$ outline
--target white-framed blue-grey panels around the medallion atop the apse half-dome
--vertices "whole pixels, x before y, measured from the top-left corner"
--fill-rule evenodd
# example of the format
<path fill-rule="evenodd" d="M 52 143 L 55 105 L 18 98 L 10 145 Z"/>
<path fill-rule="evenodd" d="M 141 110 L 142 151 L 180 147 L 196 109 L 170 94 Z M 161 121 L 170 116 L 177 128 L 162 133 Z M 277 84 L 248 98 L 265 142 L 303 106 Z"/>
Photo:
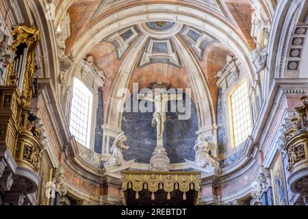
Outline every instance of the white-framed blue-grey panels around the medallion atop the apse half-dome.
<path fill-rule="evenodd" d="M 183 58 L 181 55 L 183 53 L 179 53 L 181 51 L 179 46 L 190 48 L 194 51 L 196 57 L 202 61 L 207 45 L 217 42 L 213 36 L 194 27 L 165 21 L 134 25 L 108 36 L 103 41 L 114 44 L 118 59 L 121 59 L 140 36 L 146 38 L 146 43 L 142 47 L 140 57 L 136 57 L 137 60 L 131 60 L 138 62 L 137 67 L 153 63 L 166 63 L 182 68 L 181 60 Z"/>

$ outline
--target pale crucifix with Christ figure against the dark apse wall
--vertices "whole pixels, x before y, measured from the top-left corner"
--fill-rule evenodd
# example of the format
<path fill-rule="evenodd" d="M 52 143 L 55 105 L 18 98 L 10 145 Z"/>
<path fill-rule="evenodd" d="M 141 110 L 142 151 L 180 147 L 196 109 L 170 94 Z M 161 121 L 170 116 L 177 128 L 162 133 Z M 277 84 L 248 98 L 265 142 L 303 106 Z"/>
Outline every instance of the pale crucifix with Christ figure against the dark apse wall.
<path fill-rule="evenodd" d="M 145 99 L 146 101 L 151 101 L 155 104 L 155 112 L 153 113 L 152 127 L 157 129 L 157 146 L 153 153 L 155 156 L 166 157 L 167 153 L 163 146 L 163 135 L 164 135 L 164 123 L 166 122 L 166 103 L 168 101 L 182 100 L 181 94 L 168 94 L 164 92 L 166 88 L 164 83 L 154 83 L 152 94 L 139 94 L 138 99 Z M 152 157 L 152 159 L 153 159 Z M 166 157 L 168 159 L 168 157 Z"/>

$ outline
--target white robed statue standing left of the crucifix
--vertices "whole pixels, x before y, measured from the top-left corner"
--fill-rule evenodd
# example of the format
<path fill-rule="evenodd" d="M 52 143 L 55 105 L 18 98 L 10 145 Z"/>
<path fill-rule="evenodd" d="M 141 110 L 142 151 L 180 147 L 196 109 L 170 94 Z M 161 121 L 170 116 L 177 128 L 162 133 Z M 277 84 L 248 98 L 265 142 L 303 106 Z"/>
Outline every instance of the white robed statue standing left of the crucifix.
<path fill-rule="evenodd" d="M 112 145 L 112 148 L 110 151 L 112 151 L 112 157 L 108 162 L 105 162 L 105 167 L 111 167 L 111 166 L 120 166 L 123 165 L 124 158 L 123 158 L 123 151 L 127 151 L 129 149 L 129 146 L 126 146 L 123 142 L 127 141 L 127 137 L 121 133 L 116 140 L 114 141 L 114 144 Z"/>

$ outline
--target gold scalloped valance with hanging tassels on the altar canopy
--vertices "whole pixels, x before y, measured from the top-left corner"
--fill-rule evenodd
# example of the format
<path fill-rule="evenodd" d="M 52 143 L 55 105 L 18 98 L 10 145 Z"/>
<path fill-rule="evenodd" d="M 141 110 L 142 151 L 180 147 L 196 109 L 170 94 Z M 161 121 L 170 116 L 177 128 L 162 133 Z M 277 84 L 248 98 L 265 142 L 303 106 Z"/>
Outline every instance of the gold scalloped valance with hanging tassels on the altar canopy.
<path fill-rule="evenodd" d="M 179 190 L 183 192 L 183 200 L 186 200 L 186 192 L 195 190 L 198 196 L 201 192 L 200 172 L 122 172 L 122 189 L 136 192 L 136 199 L 139 199 L 139 192 L 149 190 L 152 192 L 151 199 L 155 200 L 154 192 L 164 190 L 167 192 L 167 199 L 170 200 L 170 192 Z M 198 198 L 197 198 L 198 199 Z"/>

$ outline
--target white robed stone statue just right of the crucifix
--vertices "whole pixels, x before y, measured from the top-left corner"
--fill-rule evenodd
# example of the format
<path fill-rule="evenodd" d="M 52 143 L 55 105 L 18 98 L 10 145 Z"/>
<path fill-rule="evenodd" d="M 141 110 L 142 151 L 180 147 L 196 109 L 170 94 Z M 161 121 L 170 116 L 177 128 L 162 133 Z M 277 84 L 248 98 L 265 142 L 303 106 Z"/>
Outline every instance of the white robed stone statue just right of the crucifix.
<path fill-rule="evenodd" d="M 216 166 L 214 159 L 209 155 L 209 142 L 203 140 L 202 136 L 198 136 L 194 145 L 195 162 L 200 167 Z"/>

